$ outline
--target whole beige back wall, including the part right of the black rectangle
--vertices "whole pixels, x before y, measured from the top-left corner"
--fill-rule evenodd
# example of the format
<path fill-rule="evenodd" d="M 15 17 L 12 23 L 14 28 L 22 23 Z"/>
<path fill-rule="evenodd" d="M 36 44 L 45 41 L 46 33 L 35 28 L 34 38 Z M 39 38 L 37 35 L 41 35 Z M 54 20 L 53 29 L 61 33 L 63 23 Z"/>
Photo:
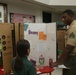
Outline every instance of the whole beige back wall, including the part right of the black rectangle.
<path fill-rule="evenodd" d="M 32 8 L 32 7 L 31 7 Z M 20 13 L 20 14 L 28 14 L 28 15 L 34 15 L 35 16 L 35 22 L 36 23 L 42 23 L 43 18 L 42 18 L 42 9 L 40 8 L 32 8 L 30 6 L 25 5 L 16 5 L 16 4 L 8 4 L 8 22 L 10 21 L 10 13 Z M 46 11 L 46 10 L 45 10 Z M 48 11 L 46 11 L 48 12 Z M 52 13 L 52 22 L 55 22 L 56 20 L 59 20 L 59 14 L 50 11 L 49 13 Z"/>

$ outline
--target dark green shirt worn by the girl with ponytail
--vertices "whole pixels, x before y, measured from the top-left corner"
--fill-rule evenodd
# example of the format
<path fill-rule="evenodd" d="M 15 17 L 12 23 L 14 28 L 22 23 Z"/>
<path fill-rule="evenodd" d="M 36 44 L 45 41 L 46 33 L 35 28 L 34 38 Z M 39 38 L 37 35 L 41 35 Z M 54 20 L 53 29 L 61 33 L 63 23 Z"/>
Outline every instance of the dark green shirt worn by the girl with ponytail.
<path fill-rule="evenodd" d="M 36 73 L 36 69 L 34 67 L 34 64 L 32 62 L 30 62 L 27 57 L 22 57 L 22 61 L 23 61 L 23 68 L 21 71 L 15 71 L 14 69 L 14 64 L 15 64 L 15 58 L 13 58 L 12 61 L 12 68 L 14 71 L 14 75 L 37 75 Z"/>

